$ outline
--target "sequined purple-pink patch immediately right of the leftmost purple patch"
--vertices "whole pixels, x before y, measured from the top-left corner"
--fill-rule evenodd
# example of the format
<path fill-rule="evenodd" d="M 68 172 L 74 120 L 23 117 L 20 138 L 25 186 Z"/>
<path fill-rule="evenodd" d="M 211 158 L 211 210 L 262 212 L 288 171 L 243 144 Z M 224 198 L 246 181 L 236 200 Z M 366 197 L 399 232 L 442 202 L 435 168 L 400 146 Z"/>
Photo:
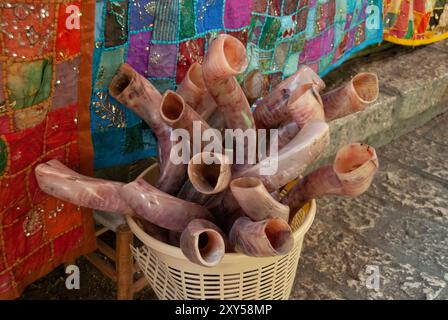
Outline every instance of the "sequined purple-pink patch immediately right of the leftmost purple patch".
<path fill-rule="evenodd" d="M 176 72 L 176 63 L 177 45 L 151 44 L 148 64 L 149 77 L 174 77 Z"/>

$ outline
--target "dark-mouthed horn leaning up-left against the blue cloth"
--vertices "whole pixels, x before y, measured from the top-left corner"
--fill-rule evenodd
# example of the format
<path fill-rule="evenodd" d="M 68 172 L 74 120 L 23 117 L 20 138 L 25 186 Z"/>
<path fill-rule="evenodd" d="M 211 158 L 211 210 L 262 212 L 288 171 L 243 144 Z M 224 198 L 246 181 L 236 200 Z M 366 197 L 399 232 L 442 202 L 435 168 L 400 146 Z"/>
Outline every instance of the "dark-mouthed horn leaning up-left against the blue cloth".
<path fill-rule="evenodd" d="M 134 111 L 152 129 L 159 145 L 160 167 L 169 161 L 171 129 L 160 118 L 162 96 L 156 88 L 131 66 L 124 63 L 113 77 L 109 93 L 120 103 Z"/>

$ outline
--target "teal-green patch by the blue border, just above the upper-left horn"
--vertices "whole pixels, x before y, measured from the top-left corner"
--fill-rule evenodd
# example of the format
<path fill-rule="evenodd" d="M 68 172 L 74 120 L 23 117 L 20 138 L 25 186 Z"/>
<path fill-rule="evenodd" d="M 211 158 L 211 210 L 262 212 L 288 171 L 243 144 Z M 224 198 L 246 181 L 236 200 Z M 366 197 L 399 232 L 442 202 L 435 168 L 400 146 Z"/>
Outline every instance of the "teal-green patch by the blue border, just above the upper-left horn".
<path fill-rule="evenodd" d="M 107 89 L 122 63 L 124 63 L 124 48 L 103 51 L 95 87 L 97 89 Z"/>

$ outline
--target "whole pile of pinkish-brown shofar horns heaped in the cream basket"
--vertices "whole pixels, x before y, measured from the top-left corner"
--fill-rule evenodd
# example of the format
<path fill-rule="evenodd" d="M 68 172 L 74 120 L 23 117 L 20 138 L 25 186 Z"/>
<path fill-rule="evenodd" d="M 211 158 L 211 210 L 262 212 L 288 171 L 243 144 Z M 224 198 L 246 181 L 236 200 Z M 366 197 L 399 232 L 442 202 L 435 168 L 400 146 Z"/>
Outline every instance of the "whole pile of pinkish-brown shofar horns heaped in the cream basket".
<path fill-rule="evenodd" d="M 333 165 L 302 175 L 329 144 L 327 122 L 375 101 L 378 79 L 360 73 L 321 96 L 324 82 L 304 66 L 267 93 L 258 72 L 251 72 L 241 86 L 237 82 L 235 76 L 248 64 L 245 52 L 238 39 L 219 35 L 203 64 L 193 64 L 177 91 L 163 96 L 129 65 L 119 68 L 109 92 L 156 135 L 157 183 L 86 177 L 51 160 L 36 168 L 40 188 L 79 206 L 132 215 L 147 233 L 179 246 L 201 266 L 216 266 L 225 252 L 257 257 L 288 253 L 294 245 L 290 222 L 307 201 L 326 195 L 357 196 L 370 186 L 378 160 L 372 147 L 359 143 L 341 148 Z M 260 162 L 231 165 L 225 154 L 214 154 L 217 161 L 212 164 L 194 161 L 210 156 L 202 150 L 192 154 L 188 165 L 173 163 L 171 132 L 192 132 L 194 121 L 204 130 L 278 129 L 277 172 L 261 175 Z M 297 178 L 280 198 L 279 190 Z"/>

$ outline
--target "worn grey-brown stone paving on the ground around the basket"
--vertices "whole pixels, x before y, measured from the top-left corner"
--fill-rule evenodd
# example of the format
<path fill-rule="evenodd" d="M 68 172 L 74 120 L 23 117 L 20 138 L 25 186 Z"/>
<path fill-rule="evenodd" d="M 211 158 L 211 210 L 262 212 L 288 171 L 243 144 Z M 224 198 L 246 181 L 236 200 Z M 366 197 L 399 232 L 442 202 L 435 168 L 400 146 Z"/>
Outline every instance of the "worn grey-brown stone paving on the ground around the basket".
<path fill-rule="evenodd" d="M 448 113 L 378 149 L 380 171 L 356 199 L 318 201 L 291 299 L 448 299 Z M 23 299 L 115 299 L 115 285 L 85 259 L 81 289 L 62 267 Z M 379 289 L 366 286 L 368 268 Z M 370 287 L 370 289 L 368 288 Z M 154 299 L 145 289 L 136 299 Z"/>

